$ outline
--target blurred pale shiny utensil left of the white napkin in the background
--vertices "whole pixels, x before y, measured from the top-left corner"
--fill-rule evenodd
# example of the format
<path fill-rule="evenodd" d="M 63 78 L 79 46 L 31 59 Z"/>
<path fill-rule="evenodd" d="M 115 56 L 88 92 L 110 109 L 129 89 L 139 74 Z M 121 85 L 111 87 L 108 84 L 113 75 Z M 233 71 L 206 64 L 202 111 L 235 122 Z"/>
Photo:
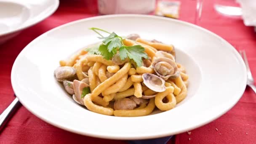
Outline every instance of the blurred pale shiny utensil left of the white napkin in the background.
<path fill-rule="evenodd" d="M 225 16 L 238 17 L 242 16 L 242 8 L 235 6 L 225 6 L 225 5 L 214 5 L 214 9 Z"/>

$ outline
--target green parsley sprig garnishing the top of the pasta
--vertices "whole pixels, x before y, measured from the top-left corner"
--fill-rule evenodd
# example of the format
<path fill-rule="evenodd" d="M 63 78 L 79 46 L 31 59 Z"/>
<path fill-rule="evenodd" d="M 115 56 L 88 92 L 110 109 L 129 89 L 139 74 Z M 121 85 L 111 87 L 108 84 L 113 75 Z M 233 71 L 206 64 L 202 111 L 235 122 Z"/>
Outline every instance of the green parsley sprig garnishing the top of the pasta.
<path fill-rule="evenodd" d="M 100 54 L 104 59 L 109 60 L 119 51 L 121 60 L 129 58 L 136 63 L 137 67 L 141 67 L 142 58 L 148 58 L 147 53 L 144 52 L 145 49 L 141 45 L 126 46 L 123 44 L 123 37 L 118 36 L 115 32 L 110 33 L 96 27 L 90 29 L 100 35 L 98 38 L 103 41 L 99 46 L 87 48 L 86 51 L 88 51 L 89 54 Z M 98 31 L 105 32 L 109 34 L 109 36 L 104 37 Z"/>

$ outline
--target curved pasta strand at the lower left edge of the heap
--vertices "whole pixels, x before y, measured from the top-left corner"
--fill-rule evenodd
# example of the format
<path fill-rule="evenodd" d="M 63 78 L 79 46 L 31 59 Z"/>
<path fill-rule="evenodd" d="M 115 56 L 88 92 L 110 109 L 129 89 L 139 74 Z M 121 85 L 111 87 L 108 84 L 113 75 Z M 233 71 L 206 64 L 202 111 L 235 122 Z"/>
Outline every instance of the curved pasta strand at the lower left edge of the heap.
<path fill-rule="evenodd" d="M 93 104 L 93 102 L 91 100 L 91 93 L 87 94 L 84 97 L 83 102 L 85 104 L 85 107 L 87 107 L 87 109 L 89 109 L 92 112 L 96 112 L 96 113 L 99 113 L 102 115 L 113 115 L 114 114 L 114 109 L 112 109 L 112 108 L 101 107 L 96 104 Z"/>

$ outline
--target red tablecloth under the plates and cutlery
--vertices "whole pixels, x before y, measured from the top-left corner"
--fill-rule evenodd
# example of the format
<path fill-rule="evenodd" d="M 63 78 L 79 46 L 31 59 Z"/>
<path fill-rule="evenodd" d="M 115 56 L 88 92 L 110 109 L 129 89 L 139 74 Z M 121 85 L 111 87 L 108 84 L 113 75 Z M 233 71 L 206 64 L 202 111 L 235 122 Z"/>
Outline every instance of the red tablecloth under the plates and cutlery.
<path fill-rule="evenodd" d="M 196 0 L 182 0 L 181 20 L 194 22 L 195 3 Z M 10 75 L 11 67 L 19 52 L 49 29 L 69 21 L 96 15 L 98 15 L 96 0 L 60 0 L 60 6 L 52 16 L 0 45 L 0 112 L 3 112 L 14 99 Z M 217 14 L 213 9 L 212 0 L 205 0 L 200 26 L 220 35 L 237 50 L 245 49 L 252 74 L 256 79 L 256 35 L 252 27 L 245 27 L 240 19 L 230 19 Z M 227 88 L 229 88 L 228 85 Z M 64 131 L 35 117 L 23 106 L 17 110 L 5 129 L 0 132 L 0 144 L 89 144 L 93 142 L 125 144 L 125 141 L 96 139 Z M 246 88 L 240 101 L 225 115 L 203 127 L 192 130 L 190 135 L 188 133 L 176 135 L 168 143 L 255 144 L 256 94 L 250 88 Z"/>

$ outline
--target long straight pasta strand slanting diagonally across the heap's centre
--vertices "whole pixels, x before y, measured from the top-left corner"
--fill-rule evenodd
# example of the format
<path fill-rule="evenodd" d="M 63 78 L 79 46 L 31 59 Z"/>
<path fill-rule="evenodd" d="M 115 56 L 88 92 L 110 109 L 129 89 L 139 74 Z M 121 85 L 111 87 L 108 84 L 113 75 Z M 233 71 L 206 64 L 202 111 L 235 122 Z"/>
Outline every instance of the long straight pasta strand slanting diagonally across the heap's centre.
<path fill-rule="evenodd" d="M 119 80 L 123 75 L 125 75 L 128 70 L 131 68 L 131 63 L 127 62 L 125 65 L 120 69 L 117 73 L 115 73 L 112 77 L 109 77 L 107 80 L 105 80 L 103 83 L 98 85 L 91 93 L 92 99 L 95 96 L 98 96 L 102 91 L 104 91 L 106 88 L 109 87 L 109 85 L 114 84 Z"/>

